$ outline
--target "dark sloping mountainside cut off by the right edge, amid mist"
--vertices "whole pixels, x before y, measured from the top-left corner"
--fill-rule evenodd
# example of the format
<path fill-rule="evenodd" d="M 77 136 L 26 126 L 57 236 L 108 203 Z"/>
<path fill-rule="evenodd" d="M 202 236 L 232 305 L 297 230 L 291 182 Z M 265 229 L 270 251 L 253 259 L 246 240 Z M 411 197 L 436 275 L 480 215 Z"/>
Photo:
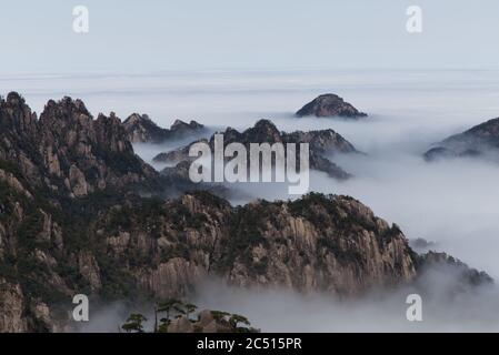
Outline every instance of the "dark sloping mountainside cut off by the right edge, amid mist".
<path fill-rule="evenodd" d="M 499 118 L 452 135 L 425 153 L 427 161 L 441 158 L 483 156 L 499 153 Z"/>

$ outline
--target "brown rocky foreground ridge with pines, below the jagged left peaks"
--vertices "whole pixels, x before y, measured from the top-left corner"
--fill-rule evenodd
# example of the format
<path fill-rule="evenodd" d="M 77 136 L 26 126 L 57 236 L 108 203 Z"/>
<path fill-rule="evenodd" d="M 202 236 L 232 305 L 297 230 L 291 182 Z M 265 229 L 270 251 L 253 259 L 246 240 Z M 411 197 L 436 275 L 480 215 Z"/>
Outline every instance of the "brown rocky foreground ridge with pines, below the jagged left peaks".
<path fill-rule="evenodd" d="M 182 297 L 208 275 L 341 295 L 416 276 L 399 229 L 349 197 L 232 207 L 196 192 L 169 201 L 86 199 L 59 211 L 4 193 L 2 207 L 12 212 L 1 224 L 2 331 L 64 329 L 61 314 L 77 293 Z"/>

